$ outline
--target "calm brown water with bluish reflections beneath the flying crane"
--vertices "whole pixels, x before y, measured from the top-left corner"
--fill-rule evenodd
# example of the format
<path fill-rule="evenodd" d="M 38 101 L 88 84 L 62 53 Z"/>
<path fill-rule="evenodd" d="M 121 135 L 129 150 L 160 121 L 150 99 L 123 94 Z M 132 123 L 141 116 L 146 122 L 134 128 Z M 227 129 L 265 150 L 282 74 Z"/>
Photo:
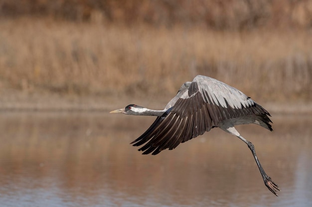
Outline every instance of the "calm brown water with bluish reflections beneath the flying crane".
<path fill-rule="evenodd" d="M 152 117 L 0 113 L 1 207 L 311 207 L 312 118 L 275 115 L 274 132 L 238 127 L 273 181 L 263 184 L 245 143 L 219 129 L 142 155 L 129 143 Z"/>

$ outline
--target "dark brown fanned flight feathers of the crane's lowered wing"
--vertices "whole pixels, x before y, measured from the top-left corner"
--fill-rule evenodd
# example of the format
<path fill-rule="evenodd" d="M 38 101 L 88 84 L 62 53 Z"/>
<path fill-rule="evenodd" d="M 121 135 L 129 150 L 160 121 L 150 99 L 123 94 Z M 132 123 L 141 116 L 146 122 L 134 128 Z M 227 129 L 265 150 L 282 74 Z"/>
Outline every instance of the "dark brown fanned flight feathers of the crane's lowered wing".
<path fill-rule="evenodd" d="M 159 118 L 156 119 L 153 125 L 157 126 L 152 125 L 153 127 L 132 142 L 134 146 L 146 143 L 140 151 L 144 151 L 144 154 L 158 154 L 163 149 L 174 149 L 179 143 L 209 131 L 212 128 L 211 119 L 207 117 L 209 113 L 205 101 L 196 85 L 193 82 L 190 86 L 193 88 L 191 97 L 179 98 L 165 118 L 160 122 Z"/>

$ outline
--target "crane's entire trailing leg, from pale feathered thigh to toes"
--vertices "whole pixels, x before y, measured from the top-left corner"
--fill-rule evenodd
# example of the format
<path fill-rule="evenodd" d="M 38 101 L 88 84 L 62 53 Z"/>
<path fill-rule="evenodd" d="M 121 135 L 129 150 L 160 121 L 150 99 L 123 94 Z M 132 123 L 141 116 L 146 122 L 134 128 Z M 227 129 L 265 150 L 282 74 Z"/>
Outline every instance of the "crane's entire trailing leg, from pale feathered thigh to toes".
<path fill-rule="evenodd" d="M 221 128 L 222 130 L 224 130 L 225 132 L 230 133 L 230 134 L 235 135 L 236 137 L 240 138 L 242 141 L 244 141 L 244 142 L 248 145 L 248 147 L 249 147 L 249 149 L 251 150 L 252 154 L 254 155 L 254 158 L 255 158 L 255 160 L 256 160 L 256 163 L 257 163 L 257 165 L 258 165 L 258 167 L 259 167 L 259 170 L 260 170 L 260 173 L 261 173 L 261 175 L 262 175 L 264 184 L 267 186 L 267 188 L 268 188 L 272 193 L 274 193 L 276 196 L 278 196 L 276 192 L 277 192 L 277 191 L 280 191 L 279 186 L 278 186 L 276 183 L 274 183 L 274 182 L 272 181 L 272 179 L 266 174 L 266 172 L 265 172 L 264 169 L 262 168 L 262 166 L 261 166 L 261 164 L 260 164 L 260 161 L 259 161 L 259 159 L 258 159 L 258 157 L 257 157 L 256 150 L 255 150 L 255 147 L 254 147 L 253 143 L 251 143 L 251 142 L 248 141 L 247 139 L 243 138 L 243 137 L 237 132 L 237 130 L 234 128 L 234 126 L 225 126 L 225 125 L 222 126 L 222 125 L 221 125 L 220 128 Z"/>

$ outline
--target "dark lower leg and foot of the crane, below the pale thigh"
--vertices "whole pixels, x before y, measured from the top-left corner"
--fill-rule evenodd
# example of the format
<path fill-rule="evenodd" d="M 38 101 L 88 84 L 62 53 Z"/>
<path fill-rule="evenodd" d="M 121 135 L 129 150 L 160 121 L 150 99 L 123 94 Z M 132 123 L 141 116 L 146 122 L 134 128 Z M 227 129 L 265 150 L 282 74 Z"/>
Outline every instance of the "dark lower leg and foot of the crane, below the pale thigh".
<path fill-rule="evenodd" d="M 252 154 L 254 155 L 254 158 L 255 158 L 255 160 L 256 160 L 256 163 L 257 163 L 257 165 L 258 165 L 258 167 L 259 167 L 259 170 L 260 170 L 260 173 L 261 173 L 261 175 L 262 175 L 264 184 L 267 186 L 267 188 L 268 188 L 272 193 L 274 193 L 276 196 L 278 196 L 276 192 L 277 192 L 277 191 L 280 191 L 279 186 L 278 186 L 276 183 L 274 183 L 274 182 L 272 181 L 272 179 L 266 174 L 266 172 L 265 172 L 264 169 L 262 168 L 262 166 L 261 166 L 261 164 L 260 164 L 260 161 L 259 161 L 259 159 L 258 159 L 258 157 L 257 157 L 256 150 L 255 150 L 255 147 L 254 147 L 253 143 L 251 143 L 250 141 L 248 141 L 247 139 L 243 138 L 243 137 L 240 136 L 240 135 L 237 136 L 237 137 L 240 138 L 242 141 L 244 141 L 244 142 L 248 145 L 249 149 L 251 150 Z"/>

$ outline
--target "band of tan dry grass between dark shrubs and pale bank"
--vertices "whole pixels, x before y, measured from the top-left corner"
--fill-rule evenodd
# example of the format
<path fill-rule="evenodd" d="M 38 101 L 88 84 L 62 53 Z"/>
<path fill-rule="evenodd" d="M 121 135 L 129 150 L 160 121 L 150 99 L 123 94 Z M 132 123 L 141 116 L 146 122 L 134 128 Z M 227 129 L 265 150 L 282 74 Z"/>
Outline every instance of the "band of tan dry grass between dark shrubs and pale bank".
<path fill-rule="evenodd" d="M 306 30 L 217 32 L 24 18 L 1 20 L 0 31 L 1 90 L 172 96 L 204 74 L 257 99 L 311 100 Z"/>

